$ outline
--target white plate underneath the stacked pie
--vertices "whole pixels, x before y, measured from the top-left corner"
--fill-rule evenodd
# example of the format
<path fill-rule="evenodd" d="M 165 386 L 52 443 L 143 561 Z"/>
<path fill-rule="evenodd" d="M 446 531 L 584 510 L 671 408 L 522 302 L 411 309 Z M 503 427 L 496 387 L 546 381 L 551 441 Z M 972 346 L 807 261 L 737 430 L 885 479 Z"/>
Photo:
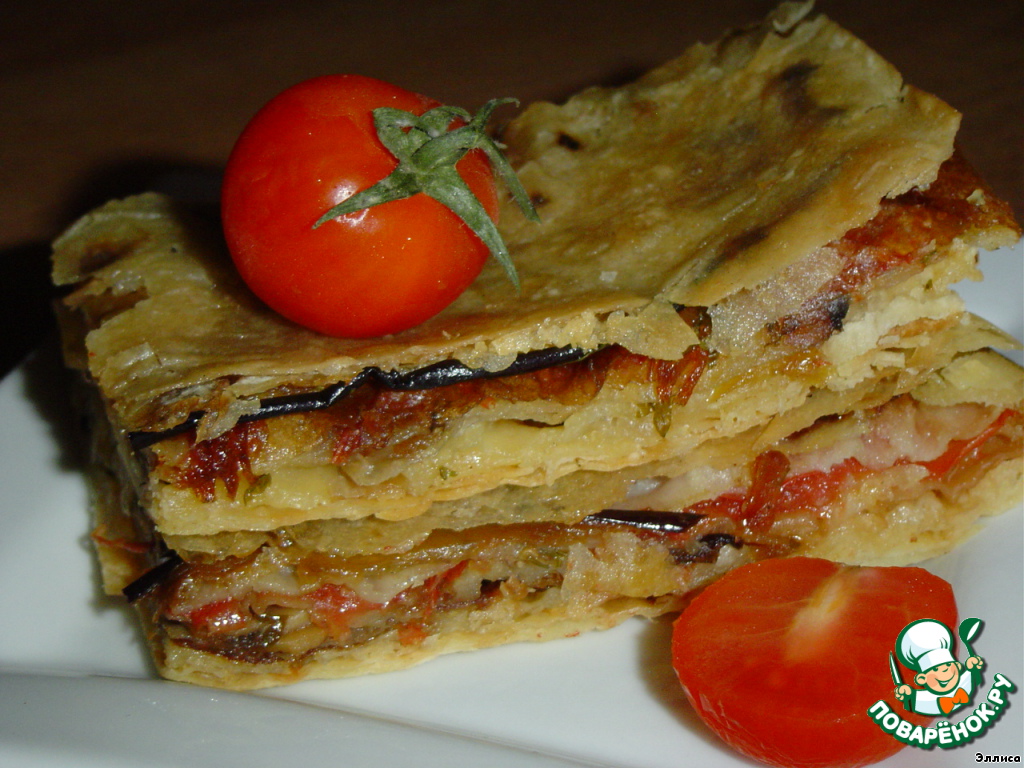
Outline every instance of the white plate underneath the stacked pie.
<path fill-rule="evenodd" d="M 986 282 L 963 293 L 1021 338 L 1021 246 L 986 254 L 982 265 Z M 84 482 L 67 439 L 73 422 L 55 376 L 52 354 L 40 353 L 0 384 L 0 765 L 750 765 L 690 713 L 669 666 L 667 622 L 258 694 L 157 680 L 129 611 L 99 596 Z M 984 620 L 975 649 L 987 670 L 1018 685 L 1022 521 L 1017 508 L 927 563 L 953 583 L 962 615 Z M 1024 695 L 1011 701 L 971 745 L 907 749 L 891 764 L 1020 755 Z"/>

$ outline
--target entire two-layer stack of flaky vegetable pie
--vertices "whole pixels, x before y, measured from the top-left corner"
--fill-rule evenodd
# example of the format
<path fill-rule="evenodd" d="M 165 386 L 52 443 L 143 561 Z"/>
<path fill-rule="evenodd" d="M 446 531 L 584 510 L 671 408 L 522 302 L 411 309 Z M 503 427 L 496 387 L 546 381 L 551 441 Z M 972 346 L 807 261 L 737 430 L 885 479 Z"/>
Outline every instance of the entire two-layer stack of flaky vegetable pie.
<path fill-rule="evenodd" d="M 950 287 L 1020 229 L 951 108 L 798 8 L 526 109 L 521 292 L 488 266 L 395 336 L 290 324 L 158 195 L 55 243 L 104 580 L 165 674 L 569 634 L 744 558 L 925 556 L 1011 503 L 1020 372 L 983 350 L 1015 342 Z"/>

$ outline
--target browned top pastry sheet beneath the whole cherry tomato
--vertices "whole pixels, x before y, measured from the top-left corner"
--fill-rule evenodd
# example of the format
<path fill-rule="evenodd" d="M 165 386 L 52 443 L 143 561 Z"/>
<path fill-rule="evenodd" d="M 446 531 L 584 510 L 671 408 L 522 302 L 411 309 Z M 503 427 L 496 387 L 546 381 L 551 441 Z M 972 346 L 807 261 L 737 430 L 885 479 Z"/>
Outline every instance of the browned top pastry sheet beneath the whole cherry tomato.
<path fill-rule="evenodd" d="M 671 303 L 757 285 L 883 199 L 929 184 L 957 123 L 823 16 L 775 14 L 623 88 L 535 104 L 510 126 L 510 153 L 542 203 L 540 225 L 504 215 L 521 296 L 492 265 L 403 334 L 324 337 L 260 305 L 218 239 L 154 196 L 73 226 L 55 244 L 54 279 L 79 286 L 67 306 L 84 315 L 80 362 L 128 429 L 202 410 L 202 431 L 217 434 L 262 394 L 368 366 L 499 370 L 530 349 L 609 343 L 674 359 L 694 337 Z M 1015 237 L 996 227 L 980 242 Z"/>

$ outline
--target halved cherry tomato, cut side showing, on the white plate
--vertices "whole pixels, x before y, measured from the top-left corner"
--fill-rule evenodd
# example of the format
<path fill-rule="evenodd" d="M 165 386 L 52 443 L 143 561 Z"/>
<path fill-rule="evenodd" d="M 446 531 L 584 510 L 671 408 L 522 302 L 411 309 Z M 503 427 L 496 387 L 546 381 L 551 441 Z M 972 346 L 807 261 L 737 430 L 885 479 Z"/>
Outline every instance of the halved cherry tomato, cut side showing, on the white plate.
<path fill-rule="evenodd" d="M 787 768 L 867 765 L 903 746 L 867 714 L 876 701 L 928 722 L 899 705 L 889 666 L 900 630 L 924 617 L 956 626 L 952 588 L 923 568 L 765 560 L 683 611 L 673 666 L 700 718 L 743 755 Z"/>

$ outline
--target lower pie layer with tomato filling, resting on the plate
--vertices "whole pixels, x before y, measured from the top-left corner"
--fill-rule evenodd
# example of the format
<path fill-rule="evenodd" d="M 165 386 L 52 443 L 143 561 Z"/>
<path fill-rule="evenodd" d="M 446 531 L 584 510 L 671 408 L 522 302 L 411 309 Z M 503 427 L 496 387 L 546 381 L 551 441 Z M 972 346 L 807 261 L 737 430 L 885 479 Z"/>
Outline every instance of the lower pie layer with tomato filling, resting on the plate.
<path fill-rule="evenodd" d="M 611 504 L 597 511 L 524 513 L 536 492 L 522 490 L 461 529 L 330 520 L 177 539 L 127 594 L 164 675 L 255 688 L 656 615 L 765 557 L 913 562 L 1019 500 L 1022 388 L 1014 364 L 971 353 L 768 445 L 755 430 L 653 474 L 598 473 Z M 398 530 L 383 544 L 374 524 Z M 138 542 L 117 536 L 97 529 L 123 564 Z"/>

